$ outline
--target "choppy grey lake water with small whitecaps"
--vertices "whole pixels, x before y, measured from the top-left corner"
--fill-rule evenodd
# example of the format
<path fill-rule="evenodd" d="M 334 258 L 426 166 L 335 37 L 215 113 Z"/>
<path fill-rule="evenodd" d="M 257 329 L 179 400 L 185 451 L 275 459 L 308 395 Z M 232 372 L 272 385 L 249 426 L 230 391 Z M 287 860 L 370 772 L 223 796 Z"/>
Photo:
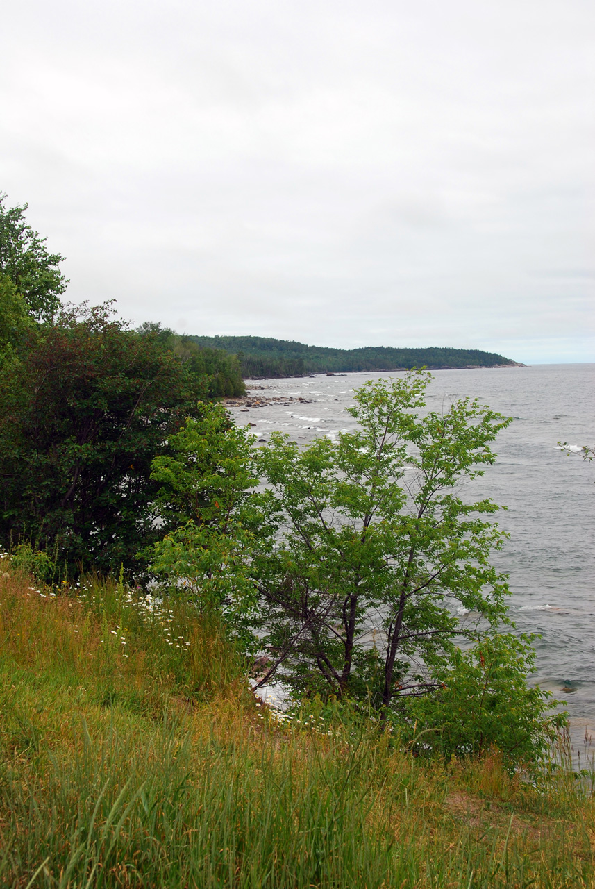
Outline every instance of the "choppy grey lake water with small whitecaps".
<path fill-rule="evenodd" d="M 254 396 L 302 397 L 309 403 L 230 408 L 261 439 L 281 430 L 300 443 L 354 427 L 345 411 L 353 388 L 389 373 L 348 373 L 247 381 Z M 595 739 L 595 461 L 566 457 L 558 441 L 595 444 L 595 364 L 437 371 L 428 406 L 478 397 L 512 416 L 496 440 L 498 460 L 473 482 L 476 496 L 508 508 L 498 517 L 510 533 L 494 562 L 510 574 L 513 620 L 536 641 L 536 679 L 567 701 L 575 742 L 585 727 Z"/>

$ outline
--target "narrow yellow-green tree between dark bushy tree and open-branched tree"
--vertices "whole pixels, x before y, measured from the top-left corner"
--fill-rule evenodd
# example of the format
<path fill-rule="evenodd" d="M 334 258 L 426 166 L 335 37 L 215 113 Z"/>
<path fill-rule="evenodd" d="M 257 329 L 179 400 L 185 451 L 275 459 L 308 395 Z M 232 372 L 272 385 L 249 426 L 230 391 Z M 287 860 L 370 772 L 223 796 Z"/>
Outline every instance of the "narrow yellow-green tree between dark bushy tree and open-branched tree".
<path fill-rule="evenodd" d="M 257 604 L 251 576 L 254 535 L 246 525 L 254 475 L 246 436 L 222 404 L 199 404 L 169 445 L 155 457 L 151 478 L 165 526 L 174 526 L 151 549 L 151 572 L 165 577 L 172 593 L 191 598 L 199 610 L 215 609 L 245 649 L 254 645 L 250 624 Z"/>

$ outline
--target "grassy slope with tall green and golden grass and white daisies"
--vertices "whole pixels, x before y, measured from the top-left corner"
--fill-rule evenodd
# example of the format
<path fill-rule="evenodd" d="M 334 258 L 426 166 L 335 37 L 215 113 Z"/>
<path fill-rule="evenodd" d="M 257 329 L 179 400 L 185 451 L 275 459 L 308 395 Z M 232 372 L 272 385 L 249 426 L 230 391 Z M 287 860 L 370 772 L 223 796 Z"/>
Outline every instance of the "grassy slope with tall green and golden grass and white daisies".
<path fill-rule="evenodd" d="M 279 725 L 212 622 L 99 584 L 51 597 L 7 562 L 0 885 L 595 885 L 571 781 L 423 762 L 338 717 Z"/>

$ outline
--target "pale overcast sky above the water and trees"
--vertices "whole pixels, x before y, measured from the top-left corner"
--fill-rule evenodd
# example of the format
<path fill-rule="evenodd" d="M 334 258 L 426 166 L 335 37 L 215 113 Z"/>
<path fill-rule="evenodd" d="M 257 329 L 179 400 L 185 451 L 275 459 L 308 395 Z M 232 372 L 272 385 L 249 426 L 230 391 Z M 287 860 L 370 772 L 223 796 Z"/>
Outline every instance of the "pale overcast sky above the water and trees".
<path fill-rule="evenodd" d="M 0 190 L 189 333 L 595 360 L 592 0 L 20 0 Z"/>

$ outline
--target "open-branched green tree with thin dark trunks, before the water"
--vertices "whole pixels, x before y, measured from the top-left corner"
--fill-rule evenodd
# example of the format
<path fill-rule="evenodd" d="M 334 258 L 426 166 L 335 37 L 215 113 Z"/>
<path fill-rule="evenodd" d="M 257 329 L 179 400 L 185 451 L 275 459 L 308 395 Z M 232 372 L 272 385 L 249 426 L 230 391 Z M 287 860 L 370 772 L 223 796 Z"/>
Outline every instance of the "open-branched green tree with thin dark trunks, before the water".
<path fill-rule="evenodd" d="M 494 462 L 489 445 L 510 420 L 469 398 L 425 412 L 428 380 L 356 390 L 360 428 L 337 444 L 300 450 L 277 434 L 259 451 L 263 682 L 276 671 L 294 692 L 371 694 L 385 709 L 438 687 L 457 637 L 505 619 L 505 577 L 489 562 L 498 507 L 460 487 Z"/>

